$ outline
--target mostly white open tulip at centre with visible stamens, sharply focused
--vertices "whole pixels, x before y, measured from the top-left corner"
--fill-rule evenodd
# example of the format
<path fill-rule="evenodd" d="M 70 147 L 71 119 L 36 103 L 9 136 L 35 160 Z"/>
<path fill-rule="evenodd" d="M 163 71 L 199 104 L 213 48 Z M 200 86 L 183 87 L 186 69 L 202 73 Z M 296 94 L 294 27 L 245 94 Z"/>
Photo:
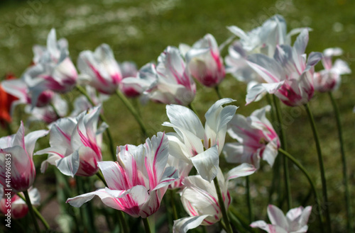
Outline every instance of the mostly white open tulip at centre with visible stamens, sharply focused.
<path fill-rule="evenodd" d="M 168 132 L 170 154 L 193 164 L 202 178 L 212 181 L 217 176 L 219 154 L 226 137 L 226 124 L 236 113 L 236 106 L 222 105 L 231 103 L 231 98 L 223 98 L 214 103 L 204 115 L 204 127 L 197 115 L 184 106 L 166 106 L 170 120 L 164 126 L 173 127 L 175 132 Z"/>

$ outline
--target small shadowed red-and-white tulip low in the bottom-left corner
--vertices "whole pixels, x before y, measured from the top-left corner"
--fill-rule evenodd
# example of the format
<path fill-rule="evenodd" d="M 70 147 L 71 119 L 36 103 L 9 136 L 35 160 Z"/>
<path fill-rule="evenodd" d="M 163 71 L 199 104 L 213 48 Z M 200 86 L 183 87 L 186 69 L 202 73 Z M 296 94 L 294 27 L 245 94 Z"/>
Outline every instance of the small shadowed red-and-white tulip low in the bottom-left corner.
<path fill-rule="evenodd" d="M 40 205 L 40 193 L 38 192 L 37 188 L 31 188 L 28 191 L 28 195 L 30 196 L 32 205 Z M 11 212 L 11 217 L 13 217 L 13 219 L 19 219 L 27 215 L 28 206 L 26 202 L 22 200 L 18 195 L 13 195 L 10 198 L 10 201 L 8 200 L 9 198 L 7 195 L 5 195 L 4 198 L 0 200 L 0 212 L 2 212 L 4 215 L 8 212 Z M 9 205 L 9 203 L 11 203 L 11 205 Z"/>

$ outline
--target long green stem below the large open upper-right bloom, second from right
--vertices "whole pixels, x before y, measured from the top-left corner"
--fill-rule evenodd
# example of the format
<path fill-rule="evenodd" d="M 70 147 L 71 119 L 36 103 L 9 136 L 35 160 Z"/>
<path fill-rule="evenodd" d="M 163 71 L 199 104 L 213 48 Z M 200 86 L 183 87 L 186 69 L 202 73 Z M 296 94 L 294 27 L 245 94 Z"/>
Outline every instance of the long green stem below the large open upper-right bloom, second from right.
<path fill-rule="evenodd" d="M 322 150 L 320 149 L 320 137 L 318 137 L 317 128 L 315 127 L 315 119 L 313 118 L 312 112 L 310 111 L 310 107 L 308 103 L 305 104 L 305 109 L 308 114 L 308 118 L 310 119 L 310 125 L 312 127 L 313 137 L 315 137 L 315 145 L 317 148 L 318 154 L 318 162 L 320 163 L 320 177 L 322 179 L 322 193 L 323 193 L 323 203 L 325 208 L 325 217 L 327 219 L 327 228 L 329 233 L 332 233 L 332 225 L 330 222 L 330 214 L 328 205 L 328 194 L 327 194 L 327 181 L 325 180 L 325 171 L 324 171 L 324 163 L 322 157 Z"/>

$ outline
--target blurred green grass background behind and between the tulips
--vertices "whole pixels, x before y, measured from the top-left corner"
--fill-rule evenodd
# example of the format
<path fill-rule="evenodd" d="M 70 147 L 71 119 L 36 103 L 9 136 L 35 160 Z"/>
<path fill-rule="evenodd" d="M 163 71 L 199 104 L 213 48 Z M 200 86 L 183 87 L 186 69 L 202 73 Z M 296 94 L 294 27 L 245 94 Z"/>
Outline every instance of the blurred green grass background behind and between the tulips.
<path fill-rule="evenodd" d="M 275 13 L 285 17 L 288 30 L 306 26 L 313 29 L 310 33 L 307 53 L 322 52 L 327 47 L 341 47 L 344 55 L 340 58 L 348 62 L 355 72 L 354 9 L 355 1 L 350 0 L 1 1 L 0 75 L 4 76 L 7 72 L 12 72 L 16 76 L 21 76 L 24 69 L 31 63 L 32 46 L 34 44 L 45 45 L 51 28 L 56 28 L 58 38 L 67 38 L 70 57 L 74 63 L 82 50 L 94 50 L 105 42 L 111 45 L 117 61 L 133 61 L 141 67 L 147 62 L 155 61 L 168 45 L 178 46 L 180 42 L 192 45 L 206 33 L 214 35 L 220 44 L 231 35 L 229 30 L 226 30 L 227 25 L 237 25 L 244 30 L 250 30 L 261 25 Z M 226 50 L 222 54 L 226 55 Z M 322 65 L 317 65 L 316 69 L 322 69 Z M 249 115 L 256 108 L 261 108 L 267 103 L 266 100 L 262 100 L 244 106 L 246 85 L 229 75 L 222 82 L 220 89 L 224 97 L 231 97 L 238 101 L 240 108 L 237 113 L 239 114 Z M 355 105 L 354 90 L 354 77 L 347 75 L 343 76 L 340 89 L 334 92 L 342 114 L 351 196 L 355 193 L 355 113 L 352 112 Z M 77 96 L 77 93 L 74 93 L 74 96 Z M 65 98 L 72 101 L 74 97 L 66 95 Z M 198 86 L 194 104 L 201 117 L 214 101 L 217 101 L 217 95 L 213 89 Z M 344 232 L 342 164 L 332 106 L 328 96 L 320 93 L 315 93 L 315 100 L 311 101 L 310 106 L 321 137 L 332 225 L 334 232 Z M 109 101 L 104 103 L 104 110 L 116 145 L 141 143 L 138 125 L 116 96 L 111 96 Z M 167 120 L 165 106 L 148 103 L 147 106 L 141 108 L 141 114 L 149 128 L 150 135 L 158 131 L 170 131 L 160 126 L 163 121 Z M 285 130 L 290 153 L 302 161 L 317 181 L 317 187 L 320 188 L 317 154 L 305 110 L 283 106 L 283 117 L 287 125 Z M 20 120 L 18 116 L 14 117 L 11 125 L 13 130 L 17 129 Z M 40 126 L 31 125 L 30 130 L 38 127 Z M 6 132 L 1 131 L 0 134 L 6 135 Z M 40 142 L 46 147 L 45 140 Z M 109 155 L 105 157 L 109 159 Z M 36 157 L 38 166 L 43 159 L 44 157 Z M 228 165 L 225 169 L 227 167 L 231 168 Z M 309 185 L 295 166 L 290 165 L 290 168 L 293 205 L 296 207 L 304 204 L 302 200 L 305 200 L 307 196 Z M 256 220 L 266 220 L 267 191 L 271 184 L 271 174 L 268 166 L 262 166 L 261 171 L 251 176 Z M 39 181 L 37 183 L 40 186 Z M 41 186 L 45 187 L 43 184 Z M 240 187 L 237 191 L 231 191 L 234 194 L 239 193 L 233 194 L 234 205 L 246 214 L 243 192 L 243 188 Z M 306 204 L 310 203 L 312 200 Z M 355 201 L 352 203 L 353 209 L 354 205 Z M 315 220 L 315 216 L 313 219 Z M 56 225 L 54 220 L 52 220 L 52 225 Z M 317 229 L 311 227 L 310 232 L 317 232 Z"/>

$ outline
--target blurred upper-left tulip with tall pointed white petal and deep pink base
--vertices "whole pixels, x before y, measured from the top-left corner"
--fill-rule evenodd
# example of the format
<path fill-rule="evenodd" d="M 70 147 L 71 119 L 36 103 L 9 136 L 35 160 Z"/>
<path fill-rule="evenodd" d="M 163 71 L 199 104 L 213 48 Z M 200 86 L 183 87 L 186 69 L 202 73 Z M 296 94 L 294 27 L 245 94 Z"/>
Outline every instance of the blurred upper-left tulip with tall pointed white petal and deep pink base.
<path fill-rule="evenodd" d="M 71 91 L 77 84 L 77 70 L 69 57 L 67 40 L 57 41 L 55 29 L 48 34 L 47 47 L 35 45 L 33 52 L 34 64 L 26 70 L 22 78 L 28 85 L 34 107 L 45 90 L 58 93 Z"/>

